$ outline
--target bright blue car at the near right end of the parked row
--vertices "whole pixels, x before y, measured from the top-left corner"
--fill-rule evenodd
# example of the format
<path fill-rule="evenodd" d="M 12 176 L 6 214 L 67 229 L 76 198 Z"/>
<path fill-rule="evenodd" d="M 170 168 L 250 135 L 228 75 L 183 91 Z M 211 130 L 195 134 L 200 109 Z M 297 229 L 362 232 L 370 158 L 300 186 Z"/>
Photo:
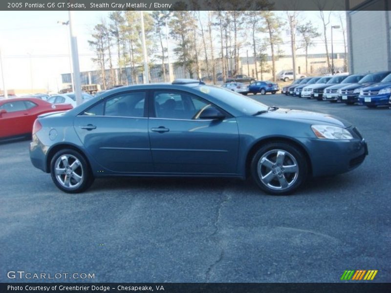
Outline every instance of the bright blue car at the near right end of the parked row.
<path fill-rule="evenodd" d="M 391 96 L 391 74 L 387 75 L 380 83 L 361 88 L 358 96 L 358 104 L 369 108 L 388 106 Z"/>

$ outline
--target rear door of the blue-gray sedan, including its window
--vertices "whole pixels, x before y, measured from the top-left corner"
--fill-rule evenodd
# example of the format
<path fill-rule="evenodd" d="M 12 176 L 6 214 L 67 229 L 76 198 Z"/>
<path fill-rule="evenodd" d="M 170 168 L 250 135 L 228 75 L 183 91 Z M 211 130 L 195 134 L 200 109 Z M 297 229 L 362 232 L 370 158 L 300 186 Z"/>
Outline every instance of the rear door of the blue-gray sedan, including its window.
<path fill-rule="evenodd" d="M 75 118 L 77 134 L 103 167 L 126 173 L 153 170 L 146 97 L 147 91 L 115 94 Z"/>

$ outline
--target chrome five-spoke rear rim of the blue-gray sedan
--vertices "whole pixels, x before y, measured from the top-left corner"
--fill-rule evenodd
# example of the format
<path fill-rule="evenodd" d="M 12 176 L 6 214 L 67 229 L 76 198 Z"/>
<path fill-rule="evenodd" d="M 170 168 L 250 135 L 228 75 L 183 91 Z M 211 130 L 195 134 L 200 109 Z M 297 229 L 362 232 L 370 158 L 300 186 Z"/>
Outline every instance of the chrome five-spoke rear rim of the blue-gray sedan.
<path fill-rule="evenodd" d="M 75 156 L 64 154 L 58 157 L 54 166 L 56 179 L 63 187 L 77 188 L 83 183 L 83 166 Z"/>

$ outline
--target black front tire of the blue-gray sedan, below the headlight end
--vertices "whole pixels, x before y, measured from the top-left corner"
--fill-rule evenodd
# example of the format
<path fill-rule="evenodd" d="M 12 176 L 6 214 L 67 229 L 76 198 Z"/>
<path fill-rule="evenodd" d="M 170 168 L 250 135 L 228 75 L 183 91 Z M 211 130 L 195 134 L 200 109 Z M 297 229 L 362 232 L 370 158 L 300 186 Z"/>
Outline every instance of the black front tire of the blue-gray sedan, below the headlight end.
<path fill-rule="evenodd" d="M 277 166 L 277 156 L 273 155 L 276 152 L 277 154 L 284 153 L 284 156 L 282 159 L 282 164 L 280 166 Z M 266 157 L 270 159 L 270 162 L 274 164 L 274 167 L 265 167 L 263 164 L 261 164 L 262 157 Z M 293 159 L 295 160 L 293 160 Z M 297 166 L 297 173 L 292 172 L 286 172 L 286 170 L 283 168 L 287 165 L 290 166 Z M 251 161 L 251 175 L 255 182 L 258 184 L 258 186 L 265 191 L 268 194 L 272 195 L 287 195 L 294 192 L 296 189 L 300 188 L 308 176 L 308 164 L 307 160 L 305 159 L 304 153 L 297 147 L 289 143 L 285 142 L 273 142 L 268 143 L 264 146 L 261 146 L 261 148 L 255 153 L 252 161 Z M 259 170 L 265 174 L 270 174 L 273 179 L 266 185 L 266 183 L 262 182 L 262 180 L 267 180 L 266 176 L 263 176 L 264 179 L 261 180 L 259 176 Z M 269 171 L 270 170 L 270 171 Z M 273 170 L 275 173 L 273 173 Z M 282 175 L 281 175 L 282 174 Z M 279 176 L 280 175 L 280 176 Z M 288 184 L 287 187 L 282 188 L 282 184 L 280 184 L 280 179 L 285 179 L 285 182 Z M 280 189 L 276 188 L 277 185 L 281 185 Z M 274 186 L 274 187 L 273 187 Z"/>

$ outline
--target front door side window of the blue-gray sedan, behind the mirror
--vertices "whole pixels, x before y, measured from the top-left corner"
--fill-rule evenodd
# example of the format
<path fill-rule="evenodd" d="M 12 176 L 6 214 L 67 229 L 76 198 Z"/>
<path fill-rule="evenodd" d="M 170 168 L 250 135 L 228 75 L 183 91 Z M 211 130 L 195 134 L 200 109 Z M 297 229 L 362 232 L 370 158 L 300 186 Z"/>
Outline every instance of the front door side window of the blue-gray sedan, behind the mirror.
<path fill-rule="evenodd" d="M 204 107 L 210 105 L 195 95 L 176 91 L 156 91 L 153 95 L 157 118 L 194 119 Z"/>

